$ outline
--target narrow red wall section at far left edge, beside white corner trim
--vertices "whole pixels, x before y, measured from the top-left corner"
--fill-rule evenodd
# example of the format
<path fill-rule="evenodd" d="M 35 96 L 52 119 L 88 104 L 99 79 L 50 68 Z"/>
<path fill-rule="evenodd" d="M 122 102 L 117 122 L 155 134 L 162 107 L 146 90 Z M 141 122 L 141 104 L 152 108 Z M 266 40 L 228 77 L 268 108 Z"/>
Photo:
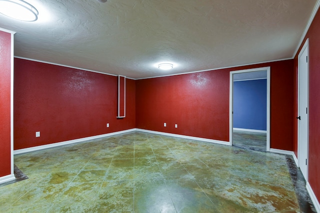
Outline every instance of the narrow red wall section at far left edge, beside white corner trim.
<path fill-rule="evenodd" d="M 11 174 L 11 34 L 0 31 L 0 177 Z"/>

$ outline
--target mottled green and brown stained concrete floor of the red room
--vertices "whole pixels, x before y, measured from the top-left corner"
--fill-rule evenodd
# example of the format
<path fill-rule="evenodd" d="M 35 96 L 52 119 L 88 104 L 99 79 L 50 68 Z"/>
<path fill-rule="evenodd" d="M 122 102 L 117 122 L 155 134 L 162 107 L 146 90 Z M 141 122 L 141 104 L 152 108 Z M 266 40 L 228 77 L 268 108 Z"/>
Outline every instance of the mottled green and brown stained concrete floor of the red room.
<path fill-rule="evenodd" d="M 14 156 L 0 212 L 302 212 L 286 156 L 133 132 Z"/>

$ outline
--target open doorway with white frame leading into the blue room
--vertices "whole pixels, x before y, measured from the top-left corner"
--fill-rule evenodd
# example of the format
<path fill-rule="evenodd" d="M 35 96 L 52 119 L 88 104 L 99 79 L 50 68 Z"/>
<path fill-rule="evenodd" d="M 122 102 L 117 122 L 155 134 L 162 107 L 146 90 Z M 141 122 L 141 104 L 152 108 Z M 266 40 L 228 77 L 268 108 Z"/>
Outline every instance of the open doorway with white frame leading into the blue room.
<path fill-rule="evenodd" d="M 230 72 L 230 144 L 269 151 L 270 68 Z"/>

